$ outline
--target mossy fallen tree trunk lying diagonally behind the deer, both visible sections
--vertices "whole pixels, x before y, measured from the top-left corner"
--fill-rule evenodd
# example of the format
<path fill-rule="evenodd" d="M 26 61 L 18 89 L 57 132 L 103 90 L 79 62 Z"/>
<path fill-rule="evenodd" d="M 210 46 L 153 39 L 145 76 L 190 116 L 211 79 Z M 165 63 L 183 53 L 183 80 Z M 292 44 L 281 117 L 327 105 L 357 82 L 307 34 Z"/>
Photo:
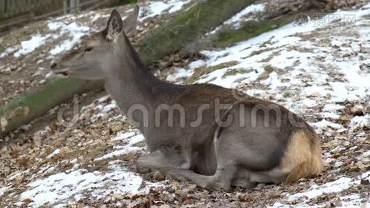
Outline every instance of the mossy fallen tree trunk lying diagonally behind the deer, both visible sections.
<path fill-rule="evenodd" d="M 155 31 L 149 32 L 139 42 L 139 55 L 145 64 L 170 55 L 252 3 L 254 0 L 200 1 Z M 89 92 L 102 86 L 102 82 L 76 78 L 53 80 L 38 92 L 26 94 L 0 107 L 0 135 L 42 116 L 52 107 L 72 98 L 73 94 Z"/>

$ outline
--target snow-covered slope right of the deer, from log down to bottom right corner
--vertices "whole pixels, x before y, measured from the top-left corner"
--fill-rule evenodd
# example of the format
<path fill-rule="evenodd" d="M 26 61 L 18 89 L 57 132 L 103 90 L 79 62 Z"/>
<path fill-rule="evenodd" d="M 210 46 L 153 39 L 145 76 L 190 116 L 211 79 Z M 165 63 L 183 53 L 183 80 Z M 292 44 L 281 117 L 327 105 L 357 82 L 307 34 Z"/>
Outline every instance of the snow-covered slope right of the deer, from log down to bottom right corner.
<path fill-rule="evenodd" d="M 310 19 L 303 25 L 288 24 L 227 49 L 202 51 L 205 60 L 176 69 L 177 72 L 171 73 L 167 80 L 181 83 L 199 74 L 197 71 L 214 66 L 216 70 L 196 77 L 195 83 L 242 89 L 249 95 L 276 101 L 304 117 L 312 116 L 315 119 L 310 119 L 310 123 L 317 132 L 334 141 L 340 132 L 367 129 L 367 133 L 349 134 L 345 138 L 348 141 L 336 143 L 336 148 L 348 150 L 345 146 L 350 142 L 369 139 L 369 110 L 342 122 L 346 119 L 344 108 L 348 103 L 352 104 L 351 110 L 370 107 L 370 70 L 367 67 L 370 20 L 367 15 L 370 15 L 370 4 L 359 10 L 338 11 L 322 19 Z M 332 22 L 331 17 L 340 17 L 340 24 Z M 222 64 L 226 67 L 217 67 Z M 335 149 L 331 151 L 336 152 Z M 332 154 L 324 155 L 328 164 L 335 162 L 332 157 Z M 368 157 L 368 151 L 363 153 L 360 164 L 369 167 Z M 341 165 L 342 162 L 334 164 L 336 167 Z M 369 175 L 369 171 L 355 178 L 338 175 L 337 180 L 312 184 L 307 191 L 287 193 L 281 201 L 296 200 L 295 205 L 306 207 L 308 200 L 356 187 L 361 180 L 370 180 Z M 343 207 L 370 206 L 369 195 L 341 196 L 340 200 L 346 201 L 342 203 Z M 276 202 L 272 207 L 290 206 Z"/>

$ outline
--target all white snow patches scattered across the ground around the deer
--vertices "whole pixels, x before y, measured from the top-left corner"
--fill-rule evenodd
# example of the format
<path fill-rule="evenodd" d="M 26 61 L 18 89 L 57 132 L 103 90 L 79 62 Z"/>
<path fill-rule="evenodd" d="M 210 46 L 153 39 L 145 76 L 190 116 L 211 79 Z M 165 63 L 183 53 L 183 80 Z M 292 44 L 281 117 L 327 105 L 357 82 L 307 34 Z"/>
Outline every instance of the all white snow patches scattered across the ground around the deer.
<path fill-rule="evenodd" d="M 141 10 L 140 18 L 143 20 L 148 17 L 155 17 L 155 15 L 160 15 L 162 12 L 166 11 L 176 12 L 181 9 L 184 4 L 189 2 L 188 0 L 150 1 L 147 8 Z M 364 21 L 362 16 L 370 14 L 369 6 L 370 4 L 356 11 L 335 12 L 335 15 L 351 15 L 356 13 L 356 21 L 360 24 L 361 21 Z M 264 4 L 249 6 L 235 17 L 229 19 L 225 24 L 238 27 L 240 26 L 241 17 L 245 17 L 245 15 L 249 15 L 252 12 L 263 10 Z M 97 19 L 98 16 L 99 15 L 94 16 L 92 21 Z M 49 37 L 58 38 L 62 35 L 68 36 L 68 40 L 59 46 L 55 46 L 55 48 L 50 51 L 51 55 L 57 55 L 71 49 L 74 44 L 80 41 L 83 35 L 91 32 L 90 28 L 80 26 L 76 22 L 66 23 L 66 21 L 64 21 L 66 18 L 75 19 L 76 17 L 69 15 L 63 18 L 56 18 L 48 23 L 49 29 L 53 31 L 53 33 L 58 33 L 57 36 L 54 34 Z M 329 42 L 328 46 L 322 46 L 319 40 L 305 40 L 299 36 L 302 34 L 309 35 L 317 28 L 326 30 L 326 28 L 317 25 L 315 21 L 311 19 L 305 26 L 288 24 L 282 28 L 263 33 L 258 37 L 240 42 L 226 49 L 202 51 L 202 53 L 206 55 L 205 60 L 197 60 L 191 62 L 191 64 L 184 69 L 176 69 L 175 73 L 167 77 L 167 80 L 181 83 L 181 81 L 179 81 L 180 78 L 192 76 L 195 69 L 199 67 L 209 67 L 224 62 L 237 61 L 238 64 L 235 66 L 212 71 L 197 79 L 195 83 L 213 83 L 224 87 L 239 87 L 250 83 L 262 85 L 263 87 L 261 87 L 261 89 L 254 89 L 252 87 L 245 87 L 243 89 L 252 96 L 255 94 L 258 94 L 259 97 L 271 96 L 272 99 L 275 99 L 278 103 L 299 113 L 310 114 L 310 109 L 321 105 L 322 108 L 318 114 L 324 117 L 324 119 L 311 123 L 318 132 L 343 132 L 347 130 L 346 128 L 354 129 L 369 125 L 369 114 L 351 118 L 348 127 L 332 121 L 332 119 L 338 119 L 341 115 L 341 111 L 345 107 L 343 101 L 361 101 L 369 96 L 370 86 L 368 80 L 370 80 L 370 74 L 366 71 L 360 71 L 360 61 L 357 56 L 338 58 L 331 54 L 333 51 L 331 47 L 348 44 L 351 47 L 344 47 L 344 49 L 338 53 L 345 53 L 346 50 L 358 51 L 358 53 L 361 53 L 361 47 L 369 47 L 367 42 L 370 40 L 368 35 L 370 27 L 363 26 L 361 28 L 353 28 L 353 30 L 357 30 L 361 35 L 360 38 L 358 38 L 360 44 L 353 44 L 353 42 L 350 41 L 353 40 L 354 37 L 346 37 L 345 35 L 343 35 L 343 37 L 338 36 L 335 40 L 333 39 L 334 41 Z M 349 28 L 340 28 L 337 30 L 344 29 L 348 30 Z M 330 28 L 330 30 L 334 31 L 335 28 Z M 44 40 L 42 40 L 42 37 L 44 37 Z M 9 48 L 4 54 L 13 53 L 15 51 L 17 51 L 17 54 L 31 53 L 37 47 L 44 44 L 49 37 L 39 36 L 37 39 L 37 35 L 33 36 L 28 42 L 22 44 L 22 49 L 19 49 L 19 51 L 17 51 L 18 49 Z M 330 39 L 331 37 L 328 38 Z M 30 42 L 37 43 L 35 44 L 35 49 L 27 46 Z M 264 46 L 261 46 L 262 44 Z M 302 50 L 300 51 L 299 49 Z M 342 54 L 339 57 L 342 57 Z M 320 61 L 317 60 L 318 58 L 321 58 Z M 267 78 L 261 78 L 261 76 L 266 73 L 265 67 L 269 65 L 272 67 L 273 71 L 267 74 Z M 328 73 L 329 69 L 326 70 L 321 65 L 331 66 L 330 70 L 340 75 L 338 76 L 338 80 L 333 79 L 333 76 L 337 74 L 333 75 Z M 252 70 L 248 70 L 247 73 L 243 74 L 224 76 L 226 72 L 236 69 Z M 285 92 L 291 93 L 292 96 L 283 97 Z M 107 112 L 116 108 L 116 103 L 113 101 L 108 102 L 108 99 L 109 97 L 105 96 L 98 100 L 98 107 L 95 109 L 96 114 L 91 116 L 91 121 L 105 116 Z M 88 111 L 89 107 L 90 106 L 87 106 L 83 109 Z M 111 152 L 95 158 L 95 161 L 112 159 L 112 157 L 115 156 L 144 150 L 144 148 L 136 146 L 136 144 L 144 141 L 143 135 L 141 135 L 138 130 L 119 132 L 117 135 L 111 137 L 109 141 L 112 141 L 112 144 L 114 144 Z M 88 144 L 91 144 L 91 141 L 81 145 L 84 146 Z M 340 150 L 346 150 L 346 147 L 338 145 L 336 148 L 333 148 L 332 152 L 334 153 Z M 58 153 L 60 153 L 60 150 L 56 149 L 46 158 L 51 158 Z M 326 154 L 327 157 L 331 155 L 330 152 Z M 369 157 L 369 155 L 370 153 L 367 151 L 360 158 L 366 158 Z M 106 172 L 89 172 L 86 169 L 80 169 L 80 164 L 77 162 L 78 159 L 75 159 L 73 168 L 66 171 L 66 173 L 56 173 L 49 177 L 39 178 L 30 182 L 27 185 L 28 189 L 21 193 L 21 200 L 31 198 L 33 202 L 30 206 L 33 207 L 42 206 L 46 202 L 49 202 L 51 205 L 60 203 L 60 206 L 63 206 L 68 202 L 78 201 L 79 198 L 82 198 L 82 193 L 84 192 L 90 192 L 93 198 L 102 198 L 111 191 L 114 191 L 114 193 L 138 193 L 141 191 L 139 188 L 141 187 L 143 179 L 136 175 L 136 173 L 132 173 L 123 168 L 124 164 L 121 164 L 122 162 L 120 160 L 109 162 L 109 171 Z M 333 164 L 336 167 L 343 165 L 342 162 L 333 162 Z M 55 171 L 55 167 L 48 165 L 40 169 L 39 174 Z M 20 174 L 21 173 L 18 175 Z M 313 184 L 307 191 L 292 193 L 292 195 L 287 196 L 286 199 L 311 199 L 325 193 L 337 193 L 349 189 L 350 187 L 358 186 L 360 179 L 369 178 L 369 175 L 369 172 L 362 173 L 359 178 L 351 178 L 342 175 L 342 177 L 332 182 L 319 185 Z M 12 177 L 17 177 L 17 174 Z M 5 191 L 6 188 L 1 188 L 0 196 Z M 351 201 L 342 203 L 342 206 L 346 207 L 358 206 L 361 199 L 360 196 L 349 195 L 342 196 L 341 200 Z M 274 207 L 288 206 L 290 205 L 284 205 L 280 202 L 276 202 L 274 205 Z M 308 205 L 299 204 L 299 206 L 304 207 Z"/>

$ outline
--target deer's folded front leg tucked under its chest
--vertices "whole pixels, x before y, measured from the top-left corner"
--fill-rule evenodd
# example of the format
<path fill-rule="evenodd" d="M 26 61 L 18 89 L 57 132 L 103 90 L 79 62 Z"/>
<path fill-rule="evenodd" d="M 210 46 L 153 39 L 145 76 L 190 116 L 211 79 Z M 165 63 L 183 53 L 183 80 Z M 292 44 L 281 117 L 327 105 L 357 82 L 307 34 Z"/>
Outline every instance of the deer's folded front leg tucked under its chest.
<path fill-rule="evenodd" d="M 177 168 L 181 165 L 182 159 L 180 155 L 159 149 L 137 159 L 136 171 L 148 173 L 161 168 Z"/>

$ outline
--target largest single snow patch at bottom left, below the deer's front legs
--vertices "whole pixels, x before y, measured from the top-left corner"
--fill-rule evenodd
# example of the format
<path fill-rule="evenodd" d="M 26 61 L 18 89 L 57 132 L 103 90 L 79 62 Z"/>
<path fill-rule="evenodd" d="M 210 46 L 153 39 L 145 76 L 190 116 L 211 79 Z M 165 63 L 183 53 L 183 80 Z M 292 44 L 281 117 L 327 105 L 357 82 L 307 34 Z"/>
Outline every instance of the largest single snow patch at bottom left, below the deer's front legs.
<path fill-rule="evenodd" d="M 28 184 L 29 189 L 21 193 L 21 200 L 30 198 L 29 206 L 38 207 L 45 203 L 65 203 L 78 197 L 82 192 L 91 192 L 92 198 L 102 198 L 114 193 L 138 193 L 142 178 L 125 171 L 119 166 L 109 173 L 88 172 L 85 169 L 69 174 L 58 173 Z"/>

